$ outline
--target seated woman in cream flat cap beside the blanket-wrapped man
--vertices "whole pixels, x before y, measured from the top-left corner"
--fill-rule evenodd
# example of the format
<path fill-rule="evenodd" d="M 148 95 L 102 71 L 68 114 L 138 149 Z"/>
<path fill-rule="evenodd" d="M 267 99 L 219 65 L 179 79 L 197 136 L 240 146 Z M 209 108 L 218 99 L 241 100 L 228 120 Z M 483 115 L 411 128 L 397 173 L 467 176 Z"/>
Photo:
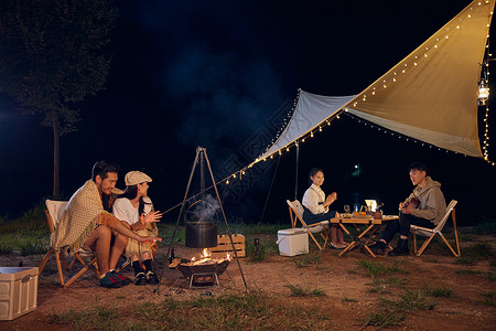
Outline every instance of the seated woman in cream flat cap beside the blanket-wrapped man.
<path fill-rule="evenodd" d="M 131 229 L 137 234 L 153 234 L 153 236 L 157 236 L 159 229 L 155 222 L 159 222 L 162 214 L 153 211 L 153 204 L 147 195 L 148 183 L 151 181 L 152 179 L 141 171 L 128 172 L 125 178 L 126 190 L 114 202 L 112 213 L 120 221 L 128 222 Z M 157 243 L 128 241 L 125 254 L 134 269 L 136 285 L 159 284 L 159 278 L 152 268 L 152 259 L 157 248 Z"/>

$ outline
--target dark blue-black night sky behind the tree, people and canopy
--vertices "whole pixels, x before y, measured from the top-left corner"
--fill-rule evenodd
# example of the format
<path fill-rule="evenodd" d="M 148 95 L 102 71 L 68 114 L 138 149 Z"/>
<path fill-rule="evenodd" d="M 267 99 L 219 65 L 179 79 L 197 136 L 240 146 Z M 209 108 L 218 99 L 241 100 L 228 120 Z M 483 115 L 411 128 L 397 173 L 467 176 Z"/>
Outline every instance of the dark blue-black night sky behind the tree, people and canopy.
<path fill-rule="evenodd" d="M 89 178 L 95 161 L 108 159 L 121 166 L 121 179 L 134 169 L 152 177 L 150 195 L 165 210 L 182 200 L 197 146 L 207 148 L 217 171 L 298 88 L 359 93 L 470 3 L 334 2 L 118 1 L 106 89 L 79 105 L 78 131 L 62 138 L 64 195 Z M 15 215 L 52 191 L 52 132 L 39 122 L 0 96 L 0 214 Z M 496 159 L 496 150 L 489 152 Z M 431 166 L 446 200 L 459 200 L 462 224 L 494 218 L 494 167 L 385 137 L 347 118 L 302 146 L 299 197 L 309 169 L 322 167 L 324 190 L 337 190 L 339 210 L 376 197 L 393 212 L 411 190 L 406 167 L 414 160 Z M 358 163 L 363 172 L 352 177 Z M 230 220 L 260 218 L 276 162 L 257 172 L 239 201 L 223 195 Z M 265 222 L 288 221 L 284 201 L 294 194 L 294 169 L 292 151 L 279 163 Z"/>

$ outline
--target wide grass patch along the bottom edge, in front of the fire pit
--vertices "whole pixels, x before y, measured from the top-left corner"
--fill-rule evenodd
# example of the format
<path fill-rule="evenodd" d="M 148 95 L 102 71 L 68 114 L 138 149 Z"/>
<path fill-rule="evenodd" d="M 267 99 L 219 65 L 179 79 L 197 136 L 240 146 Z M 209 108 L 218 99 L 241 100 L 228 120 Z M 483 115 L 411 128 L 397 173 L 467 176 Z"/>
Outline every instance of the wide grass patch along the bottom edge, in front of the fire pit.
<path fill-rule="evenodd" d="M 246 295 L 166 298 L 131 308 L 101 303 L 67 313 L 53 313 L 51 322 L 80 330 L 330 330 L 328 312 L 315 307 L 291 307 L 259 291 Z"/>

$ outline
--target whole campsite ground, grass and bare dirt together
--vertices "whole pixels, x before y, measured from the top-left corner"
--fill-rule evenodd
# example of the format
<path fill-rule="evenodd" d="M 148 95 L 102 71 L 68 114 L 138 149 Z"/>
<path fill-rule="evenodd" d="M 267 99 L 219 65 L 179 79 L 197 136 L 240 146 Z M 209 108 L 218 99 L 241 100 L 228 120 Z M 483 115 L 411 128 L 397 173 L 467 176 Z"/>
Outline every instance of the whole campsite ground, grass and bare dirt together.
<path fill-rule="evenodd" d="M 433 241 L 420 258 L 373 259 L 359 252 L 339 258 L 328 249 L 282 258 L 276 234 L 283 227 L 287 225 L 231 226 L 233 232 L 246 236 L 247 258 L 242 265 L 250 280 L 249 293 L 226 287 L 218 292 L 187 296 L 184 291 L 170 291 L 158 299 L 150 289 L 142 292 L 132 285 L 101 292 L 88 288 L 87 284 L 94 281 L 90 275 L 79 288 L 76 285 L 61 291 L 52 280 L 45 280 L 50 279 L 46 274 L 55 275 L 48 264 L 40 282 L 41 306 L 44 311 L 48 310 L 46 306 L 55 306 L 33 324 L 39 330 L 342 330 L 349 325 L 357 330 L 421 330 L 425 325 L 461 330 L 470 321 L 484 330 L 484 325 L 495 322 L 496 254 L 492 238 L 496 227 L 490 222 L 460 231 L 461 258 L 452 257 L 441 241 Z M 173 229 L 172 225 L 160 225 L 163 238 L 170 238 Z M 184 228 L 180 227 L 174 246 L 184 246 L 183 238 Z M 260 252 L 255 250 L 255 238 L 260 242 Z M 166 242 L 160 244 L 161 258 Z M 47 245 L 43 205 L 18 220 L 0 218 L 0 258 L 36 260 Z M 236 269 L 230 273 L 236 274 Z M 168 284 L 168 288 L 174 287 Z M 85 308 L 73 309 L 69 301 L 55 308 L 60 300 L 53 301 L 53 297 L 85 300 Z M 430 321 L 430 317 L 435 318 Z M 0 329 L 18 329 L 23 321 L 20 318 L 18 323 L 0 322 Z"/>

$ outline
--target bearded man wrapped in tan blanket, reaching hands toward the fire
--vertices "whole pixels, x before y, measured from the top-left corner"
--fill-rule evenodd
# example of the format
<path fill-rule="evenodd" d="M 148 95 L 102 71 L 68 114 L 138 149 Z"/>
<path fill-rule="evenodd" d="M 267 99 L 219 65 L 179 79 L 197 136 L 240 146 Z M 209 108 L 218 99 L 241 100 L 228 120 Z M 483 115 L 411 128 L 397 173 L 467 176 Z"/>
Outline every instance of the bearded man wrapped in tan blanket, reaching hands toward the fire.
<path fill-rule="evenodd" d="M 129 237 L 142 243 L 161 241 L 139 236 L 129 225 L 110 214 L 118 171 L 117 164 L 96 162 L 91 179 L 73 194 L 54 233 L 56 248 L 69 253 L 82 248 L 95 252 L 101 273 L 99 284 L 107 288 L 131 282 L 115 271 Z"/>

